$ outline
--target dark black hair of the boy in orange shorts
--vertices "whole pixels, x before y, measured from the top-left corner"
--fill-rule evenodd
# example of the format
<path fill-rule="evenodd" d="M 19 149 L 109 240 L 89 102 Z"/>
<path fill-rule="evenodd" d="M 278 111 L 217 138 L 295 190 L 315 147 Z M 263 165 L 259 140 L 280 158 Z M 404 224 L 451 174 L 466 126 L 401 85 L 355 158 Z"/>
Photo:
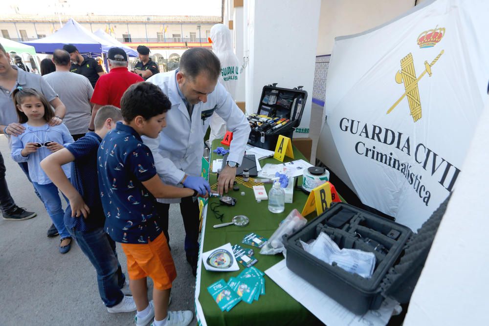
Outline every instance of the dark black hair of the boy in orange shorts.
<path fill-rule="evenodd" d="M 131 85 L 121 98 L 121 113 L 125 122 L 133 121 L 138 115 L 149 120 L 171 108 L 172 103 L 161 89 L 148 82 Z"/>

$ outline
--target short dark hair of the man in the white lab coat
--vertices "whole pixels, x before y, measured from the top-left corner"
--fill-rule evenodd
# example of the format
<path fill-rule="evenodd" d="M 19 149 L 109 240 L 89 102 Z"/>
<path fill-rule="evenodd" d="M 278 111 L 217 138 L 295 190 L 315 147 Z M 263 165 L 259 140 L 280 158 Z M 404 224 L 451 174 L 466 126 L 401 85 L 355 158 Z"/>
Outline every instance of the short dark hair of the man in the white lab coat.
<path fill-rule="evenodd" d="M 191 80 L 204 73 L 209 80 L 217 81 L 221 74 L 221 62 L 211 50 L 193 47 L 183 52 L 180 71 Z"/>

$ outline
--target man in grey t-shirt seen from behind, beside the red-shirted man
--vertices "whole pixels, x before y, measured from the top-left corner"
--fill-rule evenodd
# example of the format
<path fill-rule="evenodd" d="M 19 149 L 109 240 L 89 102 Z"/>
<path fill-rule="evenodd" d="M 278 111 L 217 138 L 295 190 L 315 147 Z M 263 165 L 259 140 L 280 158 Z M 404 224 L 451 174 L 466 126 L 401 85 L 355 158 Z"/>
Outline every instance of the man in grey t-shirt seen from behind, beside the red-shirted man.
<path fill-rule="evenodd" d="M 73 139 L 77 140 L 83 137 L 89 128 L 93 88 L 87 77 L 69 71 L 71 61 L 67 51 L 55 50 L 53 63 L 56 65 L 56 71 L 44 75 L 43 78 L 65 104 L 66 115 L 63 123 Z"/>

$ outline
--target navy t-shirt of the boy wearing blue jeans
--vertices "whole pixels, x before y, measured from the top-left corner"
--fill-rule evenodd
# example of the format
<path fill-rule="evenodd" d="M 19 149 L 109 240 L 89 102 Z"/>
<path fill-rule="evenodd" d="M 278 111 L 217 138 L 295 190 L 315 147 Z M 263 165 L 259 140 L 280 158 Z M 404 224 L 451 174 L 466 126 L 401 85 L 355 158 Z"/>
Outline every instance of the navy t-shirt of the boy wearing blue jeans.
<path fill-rule="evenodd" d="M 85 136 L 66 147 L 75 157 L 71 164 L 71 184 L 90 209 L 87 218 L 71 217 L 71 207 L 68 205 L 65 211 L 65 225 L 68 229 L 89 231 L 104 226 L 105 215 L 97 177 L 97 151 L 101 141 L 102 138 L 95 132 L 87 132 Z"/>

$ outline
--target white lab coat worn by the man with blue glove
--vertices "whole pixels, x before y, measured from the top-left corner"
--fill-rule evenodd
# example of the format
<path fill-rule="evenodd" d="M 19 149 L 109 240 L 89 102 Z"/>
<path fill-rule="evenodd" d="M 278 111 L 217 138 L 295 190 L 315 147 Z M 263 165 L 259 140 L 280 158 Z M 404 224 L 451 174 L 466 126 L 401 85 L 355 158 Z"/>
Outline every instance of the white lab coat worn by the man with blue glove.
<path fill-rule="evenodd" d="M 231 95 L 218 82 L 214 91 L 207 95 L 206 103 L 198 103 L 192 111 L 192 120 L 183 100 L 178 94 L 176 70 L 159 73 L 147 80 L 161 88 L 172 108 L 166 114 L 166 128 L 158 138 L 142 137 L 155 159 L 156 172 L 163 182 L 178 185 L 185 174 L 200 176 L 204 135 L 209 118 L 217 112 L 233 131 L 228 160 L 241 164 L 248 141 L 250 127 L 243 112 L 236 106 Z M 204 116 L 207 118 L 202 119 Z M 179 199 L 158 199 L 164 203 L 179 202 Z"/>

